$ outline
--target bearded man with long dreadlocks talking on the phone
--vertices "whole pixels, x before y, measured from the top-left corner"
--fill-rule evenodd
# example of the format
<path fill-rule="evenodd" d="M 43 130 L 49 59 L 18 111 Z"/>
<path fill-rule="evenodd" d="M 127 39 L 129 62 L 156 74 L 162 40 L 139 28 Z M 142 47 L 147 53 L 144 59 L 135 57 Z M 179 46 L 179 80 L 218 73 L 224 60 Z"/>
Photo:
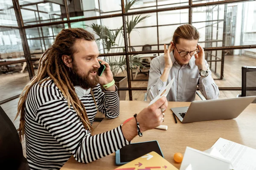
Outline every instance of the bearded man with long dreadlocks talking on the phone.
<path fill-rule="evenodd" d="M 105 133 L 92 135 L 97 110 L 113 119 L 119 97 L 107 62 L 98 58 L 93 34 L 82 28 L 63 29 L 39 60 L 38 72 L 18 103 L 20 139 L 26 136 L 30 169 L 60 169 L 70 158 L 88 163 L 129 144 L 137 136 L 136 119 Z M 98 76 L 99 61 L 106 66 Z M 100 85 L 107 85 L 105 93 Z M 137 115 L 140 131 L 163 122 L 166 97 Z M 16 118 L 17 118 L 16 116 Z"/>

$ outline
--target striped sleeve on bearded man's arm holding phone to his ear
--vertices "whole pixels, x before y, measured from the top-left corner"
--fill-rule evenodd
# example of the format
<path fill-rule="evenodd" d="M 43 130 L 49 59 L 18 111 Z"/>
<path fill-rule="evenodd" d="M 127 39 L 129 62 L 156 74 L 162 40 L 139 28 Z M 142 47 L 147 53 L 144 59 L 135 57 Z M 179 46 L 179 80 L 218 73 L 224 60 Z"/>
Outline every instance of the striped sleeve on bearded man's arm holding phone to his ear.
<path fill-rule="evenodd" d="M 98 102 L 97 106 L 101 113 L 105 115 L 108 119 L 113 119 L 119 116 L 119 96 L 116 91 L 105 91 L 103 92 L 98 85 Z"/>

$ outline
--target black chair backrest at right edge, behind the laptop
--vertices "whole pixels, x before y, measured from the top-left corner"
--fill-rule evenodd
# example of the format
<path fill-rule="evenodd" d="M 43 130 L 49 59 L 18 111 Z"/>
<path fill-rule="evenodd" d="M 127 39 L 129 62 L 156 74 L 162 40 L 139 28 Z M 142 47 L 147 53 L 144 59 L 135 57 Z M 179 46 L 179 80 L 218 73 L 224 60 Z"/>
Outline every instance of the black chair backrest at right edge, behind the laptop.
<path fill-rule="evenodd" d="M 242 93 L 241 96 L 256 96 L 256 67 L 242 67 Z M 253 101 L 256 103 L 256 99 Z"/>

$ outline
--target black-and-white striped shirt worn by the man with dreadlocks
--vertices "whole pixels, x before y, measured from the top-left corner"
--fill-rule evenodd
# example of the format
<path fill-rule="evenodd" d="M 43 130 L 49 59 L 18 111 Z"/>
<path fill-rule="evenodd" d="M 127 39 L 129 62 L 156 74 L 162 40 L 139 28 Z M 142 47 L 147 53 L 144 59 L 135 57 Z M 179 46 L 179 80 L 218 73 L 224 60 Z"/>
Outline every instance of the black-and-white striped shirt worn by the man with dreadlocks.
<path fill-rule="evenodd" d="M 117 89 L 103 93 L 98 84 L 92 91 L 98 110 L 106 118 L 119 116 Z M 88 93 L 79 99 L 92 125 L 97 113 L 93 97 Z M 36 83 L 25 104 L 26 155 L 31 170 L 58 170 L 70 156 L 88 163 L 129 144 L 121 126 L 92 136 L 51 79 L 42 85 Z"/>

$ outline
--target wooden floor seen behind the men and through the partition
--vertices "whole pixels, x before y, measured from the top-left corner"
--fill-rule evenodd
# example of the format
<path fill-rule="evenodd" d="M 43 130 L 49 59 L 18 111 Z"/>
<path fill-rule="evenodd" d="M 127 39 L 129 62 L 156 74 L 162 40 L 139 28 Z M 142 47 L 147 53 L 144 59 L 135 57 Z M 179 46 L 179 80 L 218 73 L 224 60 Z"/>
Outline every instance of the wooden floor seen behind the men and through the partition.
<path fill-rule="evenodd" d="M 241 87 L 241 67 L 243 65 L 256 66 L 256 59 L 244 56 L 225 56 L 224 62 L 224 80 L 215 80 L 218 87 Z M 220 64 L 217 66 L 217 70 L 220 70 Z M 121 74 L 120 74 L 121 75 Z M 213 78 L 216 76 L 213 74 Z M 136 79 L 148 79 L 148 75 L 138 74 Z M 0 101 L 8 99 L 9 97 L 18 95 L 21 93 L 25 85 L 29 82 L 29 75 L 27 72 L 14 73 L 14 74 L 1 74 L 0 75 Z M 132 81 L 132 87 L 147 87 L 147 81 Z M 133 100 L 144 100 L 146 91 L 132 91 Z M 220 91 L 219 98 L 231 98 L 236 97 L 237 94 L 241 94 L 241 91 Z M 126 100 L 129 100 L 128 91 L 126 93 Z M 196 100 L 200 100 L 196 96 Z M 17 113 L 18 99 L 14 99 L 7 102 L 1 107 L 7 113 L 9 118 L 14 121 Z M 19 117 L 14 121 L 16 128 L 19 127 Z M 93 128 L 96 128 L 99 122 L 93 123 Z M 25 142 L 23 144 L 23 153 L 26 156 Z"/>

